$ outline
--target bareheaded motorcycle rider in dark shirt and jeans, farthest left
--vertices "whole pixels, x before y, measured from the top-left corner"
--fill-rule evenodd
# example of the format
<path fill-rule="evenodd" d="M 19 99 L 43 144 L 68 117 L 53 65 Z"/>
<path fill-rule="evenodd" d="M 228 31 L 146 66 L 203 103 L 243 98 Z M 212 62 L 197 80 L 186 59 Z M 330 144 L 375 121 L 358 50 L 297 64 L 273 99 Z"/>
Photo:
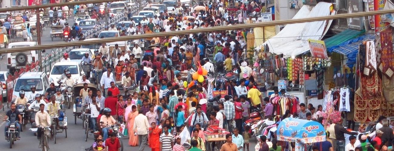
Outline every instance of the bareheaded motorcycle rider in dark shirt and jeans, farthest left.
<path fill-rule="evenodd" d="M 22 123 L 22 116 L 20 116 L 19 111 L 17 110 L 17 105 L 15 103 L 11 103 L 11 110 L 7 111 L 6 116 L 4 116 L 3 122 L 9 118 L 9 122 L 7 122 L 6 127 L 4 127 L 4 134 L 6 134 L 6 131 L 8 130 L 9 124 L 15 122 L 15 126 L 17 128 L 17 140 L 19 140 L 19 133 L 20 133 L 20 125 L 19 123 Z M 19 123 L 17 122 L 19 121 Z M 7 136 L 6 136 L 7 139 Z"/>

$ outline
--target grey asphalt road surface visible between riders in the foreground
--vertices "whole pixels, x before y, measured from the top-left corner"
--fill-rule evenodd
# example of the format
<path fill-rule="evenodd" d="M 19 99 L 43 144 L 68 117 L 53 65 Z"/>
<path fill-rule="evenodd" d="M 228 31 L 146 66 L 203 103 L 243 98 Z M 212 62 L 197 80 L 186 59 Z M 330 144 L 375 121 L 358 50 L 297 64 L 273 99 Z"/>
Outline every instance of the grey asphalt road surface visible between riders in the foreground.
<path fill-rule="evenodd" d="M 7 109 L 6 109 L 7 110 Z M 89 134 L 89 138 L 87 142 L 85 142 L 84 129 L 82 129 L 82 120 L 77 119 L 77 124 L 74 124 L 74 116 L 72 114 L 72 109 L 66 110 L 66 116 L 68 118 L 68 137 L 65 138 L 64 133 L 57 133 L 56 135 L 56 143 L 54 144 L 53 140 L 49 140 L 49 147 L 51 151 L 85 151 L 85 148 L 89 147 L 93 142 L 93 134 Z M 0 117 L 2 119 L 2 117 Z M 2 151 L 10 151 L 9 142 L 4 139 L 4 127 L 5 123 L 0 123 L 0 148 Z M 30 128 L 30 124 L 26 125 L 26 130 L 21 133 L 21 138 L 19 141 L 15 142 L 13 145 L 13 151 L 40 151 L 38 148 L 39 140 L 37 140 L 37 136 L 34 136 L 33 133 L 28 130 Z M 121 138 L 124 143 L 124 151 L 136 151 L 138 147 L 131 147 L 128 145 L 128 138 Z M 254 151 L 255 140 L 251 140 L 251 144 L 249 149 Z M 151 148 L 148 146 L 145 147 L 144 151 L 151 151 Z"/>

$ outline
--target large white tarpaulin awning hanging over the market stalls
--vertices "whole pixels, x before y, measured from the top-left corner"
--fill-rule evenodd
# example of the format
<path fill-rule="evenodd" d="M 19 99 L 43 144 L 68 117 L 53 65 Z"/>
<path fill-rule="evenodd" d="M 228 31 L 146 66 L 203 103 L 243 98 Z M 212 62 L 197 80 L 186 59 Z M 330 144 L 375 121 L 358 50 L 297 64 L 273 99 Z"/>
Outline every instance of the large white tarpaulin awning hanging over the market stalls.
<path fill-rule="evenodd" d="M 331 15 L 331 3 L 319 2 L 315 7 L 304 5 L 293 19 Z M 310 10 L 312 8 L 312 10 Z M 264 42 L 269 52 L 284 57 L 296 56 L 310 50 L 308 39 L 321 40 L 332 20 L 305 22 L 286 25 L 277 35 Z M 261 46 L 260 46 L 261 47 Z"/>

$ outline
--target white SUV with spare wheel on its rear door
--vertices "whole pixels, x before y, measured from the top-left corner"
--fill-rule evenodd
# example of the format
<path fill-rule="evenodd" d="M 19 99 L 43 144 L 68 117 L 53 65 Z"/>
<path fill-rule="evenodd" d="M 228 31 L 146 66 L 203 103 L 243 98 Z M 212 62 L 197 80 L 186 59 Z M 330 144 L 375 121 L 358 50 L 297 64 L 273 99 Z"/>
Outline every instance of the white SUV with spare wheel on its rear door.
<path fill-rule="evenodd" d="M 11 42 L 8 44 L 8 48 L 30 47 L 35 45 L 37 45 L 35 41 Z M 14 74 L 15 70 L 26 67 L 27 64 L 31 64 L 38 60 L 38 51 L 41 50 L 7 53 L 7 69 L 9 73 Z M 45 50 L 42 50 L 42 52 L 45 52 Z"/>

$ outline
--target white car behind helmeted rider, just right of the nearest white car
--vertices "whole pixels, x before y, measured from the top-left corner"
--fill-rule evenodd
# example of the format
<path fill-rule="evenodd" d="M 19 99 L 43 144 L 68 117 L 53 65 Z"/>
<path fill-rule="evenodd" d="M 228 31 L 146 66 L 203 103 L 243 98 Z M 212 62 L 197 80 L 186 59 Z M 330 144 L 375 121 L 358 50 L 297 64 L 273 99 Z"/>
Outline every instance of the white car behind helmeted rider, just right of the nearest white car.
<path fill-rule="evenodd" d="M 64 74 L 64 68 L 68 68 L 71 73 L 71 78 L 74 81 L 79 81 L 85 72 L 82 70 L 82 66 L 76 62 L 59 62 L 52 66 L 52 70 L 47 73 L 49 74 L 49 83 L 54 83 L 56 87 L 59 86 L 59 79 L 61 74 Z"/>

